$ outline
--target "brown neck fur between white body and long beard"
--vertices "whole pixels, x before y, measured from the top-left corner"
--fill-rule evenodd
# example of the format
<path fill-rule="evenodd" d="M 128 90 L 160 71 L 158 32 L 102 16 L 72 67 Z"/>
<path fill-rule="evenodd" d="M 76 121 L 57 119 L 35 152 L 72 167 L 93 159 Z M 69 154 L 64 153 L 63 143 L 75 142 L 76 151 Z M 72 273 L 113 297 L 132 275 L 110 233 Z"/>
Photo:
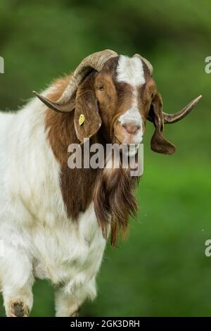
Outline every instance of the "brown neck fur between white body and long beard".
<path fill-rule="evenodd" d="M 63 93 L 68 80 L 70 77 L 65 80 L 57 80 L 55 82 L 56 92 L 49 95 L 49 99 L 56 101 Z M 68 168 L 68 146 L 79 142 L 75 134 L 73 118 L 74 112 L 55 113 L 51 109 L 46 110 L 46 130 L 48 130 L 49 142 L 53 154 L 60 163 L 60 189 L 63 201 L 68 217 L 77 220 L 79 212 L 86 211 L 91 203 L 97 171 Z"/>

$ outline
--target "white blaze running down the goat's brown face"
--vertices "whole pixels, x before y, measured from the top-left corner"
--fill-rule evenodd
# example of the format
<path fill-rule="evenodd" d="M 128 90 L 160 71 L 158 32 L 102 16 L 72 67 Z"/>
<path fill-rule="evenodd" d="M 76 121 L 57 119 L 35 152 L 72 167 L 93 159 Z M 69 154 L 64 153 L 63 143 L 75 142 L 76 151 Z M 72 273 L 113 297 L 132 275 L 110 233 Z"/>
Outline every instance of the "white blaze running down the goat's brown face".
<path fill-rule="evenodd" d="M 138 106 L 138 89 L 146 82 L 141 59 L 121 55 L 117 65 L 117 82 L 125 82 L 132 87 L 132 106 L 119 120 L 122 125 L 128 123 L 140 126 L 140 130 L 134 136 L 134 143 L 139 144 L 143 139 L 143 128 Z"/>

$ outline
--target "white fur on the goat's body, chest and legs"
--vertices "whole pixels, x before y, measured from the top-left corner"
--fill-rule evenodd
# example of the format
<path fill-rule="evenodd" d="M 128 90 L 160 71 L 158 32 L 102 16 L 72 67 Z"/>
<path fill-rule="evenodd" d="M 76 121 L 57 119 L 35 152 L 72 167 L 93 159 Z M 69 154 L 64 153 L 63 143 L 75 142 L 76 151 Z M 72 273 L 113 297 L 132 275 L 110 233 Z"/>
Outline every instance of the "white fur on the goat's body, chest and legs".
<path fill-rule="evenodd" d="M 32 308 L 39 277 L 63 284 L 56 314 L 70 316 L 88 296 L 94 299 L 106 246 L 93 204 L 78 223 L 66 216 L 44 112 L 33 99 L 18 113 L 0 113 L 0 286 L 7 315 L 15 299 Z"/>

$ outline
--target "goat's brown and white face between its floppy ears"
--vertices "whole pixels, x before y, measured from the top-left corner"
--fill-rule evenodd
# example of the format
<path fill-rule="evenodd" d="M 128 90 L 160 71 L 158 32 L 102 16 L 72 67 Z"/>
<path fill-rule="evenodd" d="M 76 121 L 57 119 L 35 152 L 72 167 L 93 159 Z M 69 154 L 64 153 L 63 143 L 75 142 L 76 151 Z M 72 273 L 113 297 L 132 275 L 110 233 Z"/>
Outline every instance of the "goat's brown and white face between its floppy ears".
<path fill-rule="evenodd" d="M 110 59 L 94 75 L 94 92 L 106 138 L 119 144 L 141 143 L 156 92 L 155 82 L 141 58 Z"/>

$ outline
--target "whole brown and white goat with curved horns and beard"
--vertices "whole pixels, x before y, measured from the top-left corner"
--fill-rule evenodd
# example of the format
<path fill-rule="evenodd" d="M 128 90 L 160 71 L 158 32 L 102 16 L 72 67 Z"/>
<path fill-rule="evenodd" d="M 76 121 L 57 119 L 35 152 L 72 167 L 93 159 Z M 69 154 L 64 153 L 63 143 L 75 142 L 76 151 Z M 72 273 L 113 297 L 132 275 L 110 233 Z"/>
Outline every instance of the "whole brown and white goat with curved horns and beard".
<path fill-rule="evenodd" d="M 106 50 L 84 58 L 18 113 L 0 114 L 0 286 L 6 316 L 28 316 L 35 277 L 56 287 L 56 316 L 77 316 L 96 296 L 106 239 L 113 245 L 136 212 L 128 169 L 68 168 L 68 146 L 139 144 L 146 120 L 153 151 L 173 154 L 162 135 L 195 106 L 162 112 L 153 67 Z M 136 151 L 135 151 L 136 154 Z"/>

